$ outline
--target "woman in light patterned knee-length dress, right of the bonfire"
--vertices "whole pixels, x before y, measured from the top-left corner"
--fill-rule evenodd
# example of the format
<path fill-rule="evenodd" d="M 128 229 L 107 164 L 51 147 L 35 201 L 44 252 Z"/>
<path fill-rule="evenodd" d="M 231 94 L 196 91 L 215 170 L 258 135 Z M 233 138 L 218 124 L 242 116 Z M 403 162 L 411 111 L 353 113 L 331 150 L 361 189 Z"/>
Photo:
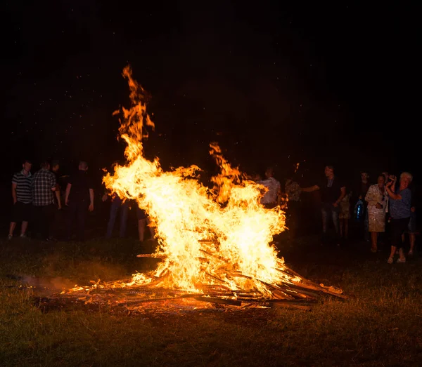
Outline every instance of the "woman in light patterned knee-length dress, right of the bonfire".
<path fill-rule="evenodd" d="M 385 231 L 385 210 L 388 208 L 388 195 L 385 191 L 385 178 L 379 175 L 376 185 L 371 185 L 366 192 L 368 203 L 369 232 L 371 232 L 371 251 L 376 253 L 378 233 Z"/>

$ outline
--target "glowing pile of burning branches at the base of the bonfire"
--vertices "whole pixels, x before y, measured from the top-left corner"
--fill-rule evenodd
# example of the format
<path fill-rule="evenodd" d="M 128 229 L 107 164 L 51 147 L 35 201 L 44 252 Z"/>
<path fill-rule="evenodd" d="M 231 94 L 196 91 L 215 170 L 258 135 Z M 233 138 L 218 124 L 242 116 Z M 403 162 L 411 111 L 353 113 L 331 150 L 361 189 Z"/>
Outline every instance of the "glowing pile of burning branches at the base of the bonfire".
<path fill-rule="evenodd" d="M 203 251 L 204 257 L 215 256 Z M 160 258 L 160 254 L 138 255 L 139 258 Z M 277 272 L 281 272 L 281 283 L 270 284 L 260 279 L 252 279 L 248 274 L 229 269 L 218 269 L 215 272 L 205 271 L 205 276 L 210 282 L 198 285 L 197 291 L 186 291 L 177 288 L 165 288 L 165 279 L 170 274 L 165 273 L 156 276 L 153 272 L 143 274 L 145 283 L 134 283 L 133 279 L 120 281 L 102 282 L 91 281 L 89 286 L 75 287 L 68 291 L 55 293 L 49 298 L 43 298 L 43 305 L 51 302 L 78 303 L 83 305 L 107 305 L 110 307 L 124 307 L 129 311 L 140 310 L 143 307 L 151 307 L 151 303 L 184 302 L 190 305 L 208 305 L 205 307 L 289 307 L 298 309 L 310 309 L 312 302 L 317 302 L 321 295 L 331 295 L 336 298 L 347 298 L 343 291 L 333 286 L 324 286 L 302 278 L 298 273 L 279 260 Z M 259 282 L 269 292 L 262 293 L 256 288 L 234 290 L 229 286 L 231 280 L 236 278 L 252 279 Z M 198 302 L 205 302 L 198 303 Z"/>

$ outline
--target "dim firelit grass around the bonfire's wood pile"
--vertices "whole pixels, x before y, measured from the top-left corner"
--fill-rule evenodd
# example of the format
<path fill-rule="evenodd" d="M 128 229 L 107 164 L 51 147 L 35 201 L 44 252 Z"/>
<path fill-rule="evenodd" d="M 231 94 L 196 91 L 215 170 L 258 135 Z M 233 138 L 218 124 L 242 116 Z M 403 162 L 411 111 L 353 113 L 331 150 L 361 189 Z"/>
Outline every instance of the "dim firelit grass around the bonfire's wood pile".
<path fill-rule="evenodd" d="M 43 289 L 127 278 L 152 269 L 134 241 L 0 243 L 0 366 L 421 366 L 422 259 L 388 265 L 368 243 L 338 248 L 314 238 L 281 245 L 302 276 L 340 286 L 297 309 L 122 315 L 82 309 L 43 313 Z"/>

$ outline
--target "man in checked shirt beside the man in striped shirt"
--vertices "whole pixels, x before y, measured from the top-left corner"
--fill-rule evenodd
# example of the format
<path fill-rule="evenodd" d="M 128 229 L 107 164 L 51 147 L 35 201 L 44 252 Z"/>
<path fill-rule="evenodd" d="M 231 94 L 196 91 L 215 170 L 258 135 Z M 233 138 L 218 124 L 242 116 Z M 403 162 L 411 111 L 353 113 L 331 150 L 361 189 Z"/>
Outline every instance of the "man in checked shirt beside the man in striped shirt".
<path fill-rule="evenodd" d="M 50 171 L 47 161 L 41 163 L 41 169 L 34 174 L 32 181 L 32 204 L 34 206 L 34 222 L 41 239 L 51 240 L 51 222 L 54 215 L 54 195 L 56 177 Z"/>

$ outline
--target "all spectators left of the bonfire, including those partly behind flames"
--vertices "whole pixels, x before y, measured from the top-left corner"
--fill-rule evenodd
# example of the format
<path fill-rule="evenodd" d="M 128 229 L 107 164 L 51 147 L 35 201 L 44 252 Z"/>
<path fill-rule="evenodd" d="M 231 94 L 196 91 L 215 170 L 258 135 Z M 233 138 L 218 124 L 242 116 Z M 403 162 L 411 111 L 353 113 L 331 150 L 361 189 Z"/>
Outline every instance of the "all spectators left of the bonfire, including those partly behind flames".
<path fill-rule="evenodd" d="M 27 238 L 28 223 L 31 223 L 31 238 L 44 241 L 57 241 L 58 222 L 63 220 L 63 203 L 66 206 L 65 236 L 61 239 L 84 241 L 87 214 L 94 211 L 94 182 L 88 174 L 86 161 L 79 161 L 78 169 L 68 176 L 65 190 L 59 185 L 58 161 L 43 161 L 39 171 L 32 175 L 32 162 L 25 160 L 22 170 L 13 175 L 13 208 L 8 239 L 13 239 L 15 228 L 20 224 L 20 237 Z M 136 206 L 139 241 L 146 238 L 148 216 L 136 203 L 122 201 L 119 196 L 104 192 L 102 201 L 110 198 L 110 215 L 106 238 L 113 234 L 117 213 L 120 211 L 120 237 L 126 236 L 129 206 Z M 148 226 L 150 238 L 154 237 L 153 227 Z"/>

